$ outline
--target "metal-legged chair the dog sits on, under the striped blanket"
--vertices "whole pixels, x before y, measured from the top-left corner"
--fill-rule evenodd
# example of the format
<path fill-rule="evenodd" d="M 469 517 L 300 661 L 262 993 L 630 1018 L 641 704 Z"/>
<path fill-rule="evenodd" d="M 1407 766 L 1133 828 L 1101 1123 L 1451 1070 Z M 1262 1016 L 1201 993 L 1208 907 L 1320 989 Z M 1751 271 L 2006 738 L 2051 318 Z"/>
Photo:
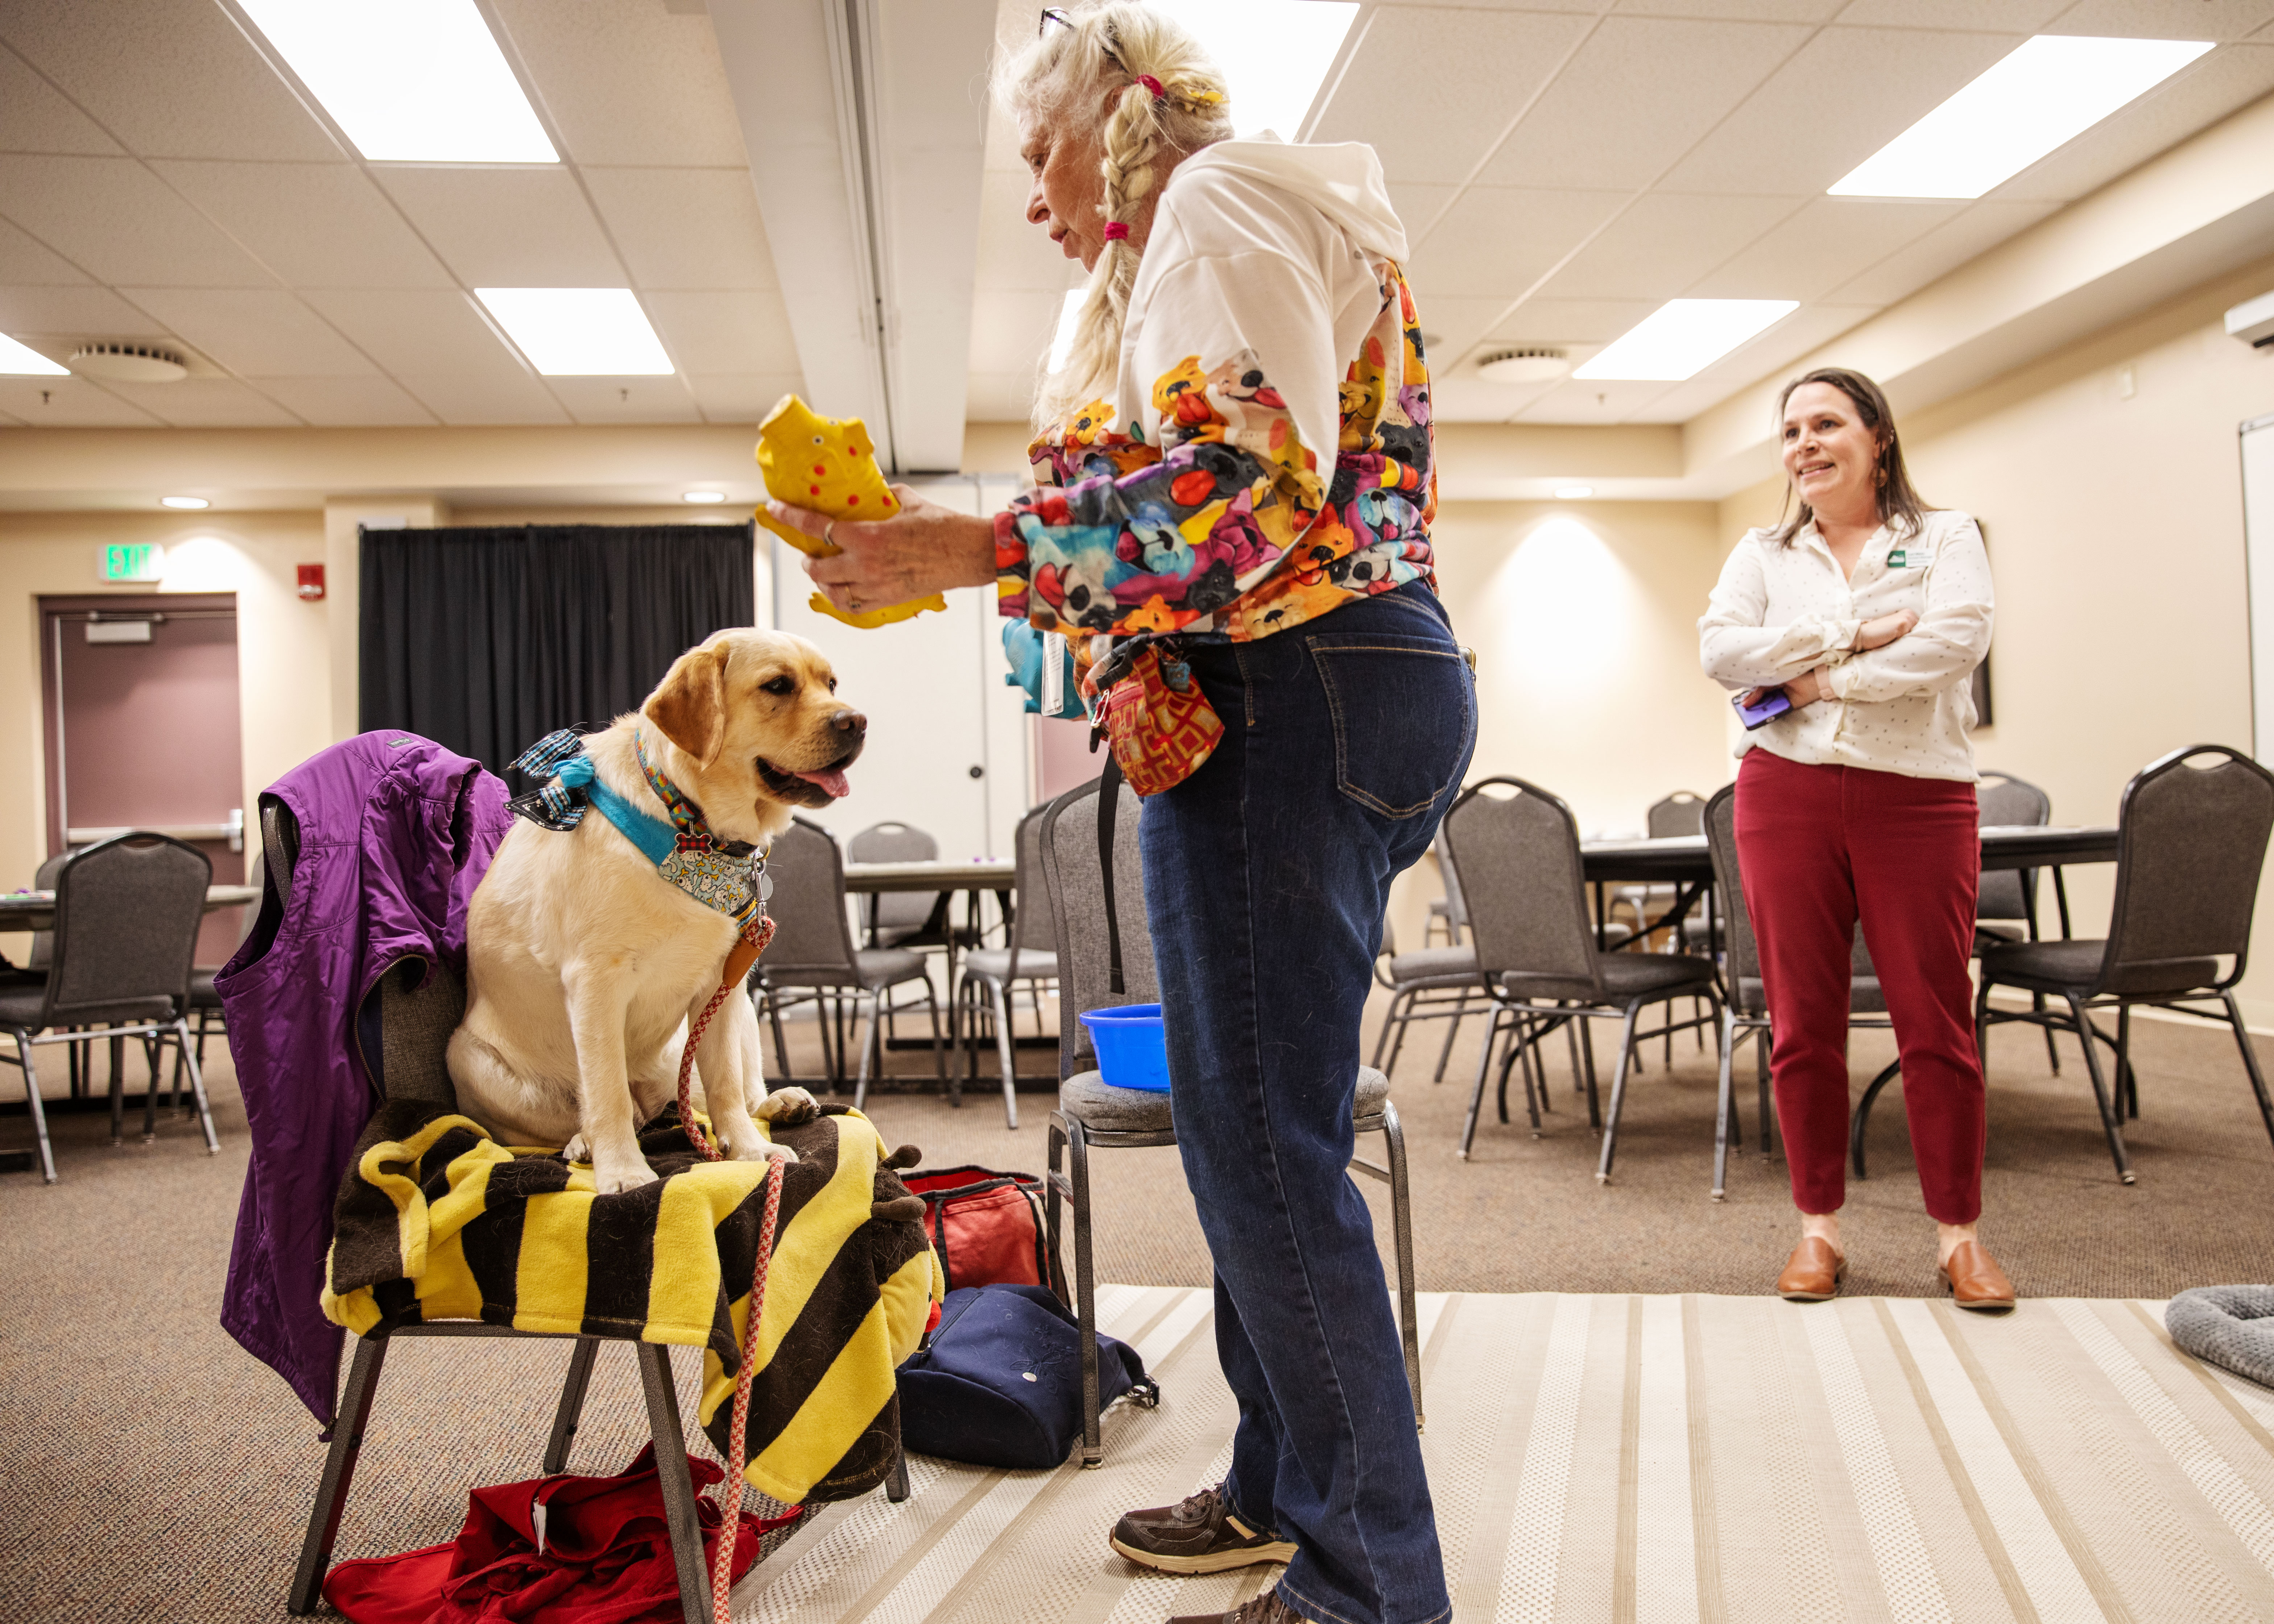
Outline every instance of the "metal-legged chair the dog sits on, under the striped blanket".
<path fill-rule="evenodd" d="M 262 857 L 268 901 L 264 908 L 282 908 L 291 896 L 293 864 L 300 860 L 300 830 L 291 807 L 275 796 L 262 796 Z M 466 1014 L 466 987 L 446 962 L 437 960 L 418 985 L 425 960 L 412 960 L 391 969 L 373 987 L 355 1019 L 355 1039 L 384 1101 L 423 1101 L 457 1110 L 457 1089 L 450 1085 L 446 1051 L 450 1033 Z M 582 1256 L 578 1258 L 582 1267 Z M 584 1392 L 591 1385 L 591 1367 L 600 1356 L 603 1340 L 623 1340 L 632 1347 L 639 1365 L 639 1390 L 648 1408 L 648 1431 L 655 1442 L 657 1488 L 664 1497 L 664 1524 L 671 1540 L 671 1558 L 680 1576 L 680 1606 L 687 1624 L 709 1624 L 709 1569 L 703 1560 L 703 1526 L 696 1510 L 696 1485 L 687 1472 L 687 1431 L 680 1419 L 680 1397 L 671 1378 L 671 1349 L 662 1342 L 634 1337 L 575 1335 L 566 1331 L 518 1331 L 493 1326 L 480 1319 L 434 1319 L 416 1324 L 380 1321 L 355 1340 L 355 1360 L 348 1365 L 348 1383 L 339 1394 L 339 1412 L 332 1422 L 332 1442 L 323 1456 L 323 1476 L 316 1481 L 316 1503 L 307 1515 L 307 1535 L 300 1542 L 300 1563 L 293 1569 L 287 1610 L 296 1615 L 316 1613 L 323 1606 L 323 1576 L 332 1567 L 332 1544 L 339 1538 L 339 1519 L 348 1506 L 348 1488 L 355 1481 L 355 1465 L 364 1449 L 364 1433 L 371 1428 L 373 1401 L 380 1390 L 380 1369 L 387 1349 L 398 1337 L 512 1337 L 516 1342 L 571 1342 L 568 1372 L 562 1381 L 562 1397 L 553 1410 L 553 1431 L 546 1435 L 543 1474 L 555 1476 L 568 1469 L 568 1449 L 575 1442 L 578 1422 L 584 1415 Z M 894 1469 L 887 1492 L 891 1499 L 907 1499 L 905 1460 Z M 778 1549 L 800 1524 L 789 1524 L 766 1535 L 762 1553 Z"/>

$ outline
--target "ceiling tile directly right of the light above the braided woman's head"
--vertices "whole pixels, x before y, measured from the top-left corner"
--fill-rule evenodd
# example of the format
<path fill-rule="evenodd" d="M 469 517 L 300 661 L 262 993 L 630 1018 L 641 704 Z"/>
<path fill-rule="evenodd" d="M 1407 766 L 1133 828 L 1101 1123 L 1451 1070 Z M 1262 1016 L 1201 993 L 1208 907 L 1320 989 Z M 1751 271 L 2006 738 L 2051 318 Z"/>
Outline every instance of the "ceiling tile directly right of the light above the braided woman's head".
<path fill-rule="evenodd" d="M 1376 11 L 1312 141 L 1371 141 L 1387 180 L 1467 180 L 1587 27 L 1537 11 Z M 1385 96 L 1412 84 L 1414 64 L 1428 64 L 1428 93 Z"/>

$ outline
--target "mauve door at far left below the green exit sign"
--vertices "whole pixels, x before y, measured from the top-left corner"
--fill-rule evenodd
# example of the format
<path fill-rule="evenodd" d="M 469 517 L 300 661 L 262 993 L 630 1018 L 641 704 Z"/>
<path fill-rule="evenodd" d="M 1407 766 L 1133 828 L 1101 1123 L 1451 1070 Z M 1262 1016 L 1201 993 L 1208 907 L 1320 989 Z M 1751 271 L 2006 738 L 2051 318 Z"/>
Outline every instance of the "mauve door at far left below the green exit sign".
<path fill-rule="evenodd" d="M 48 853 L 148 828 L 211 857 L 214 885 L 241 883 L 236 596 L 41 598 L 39 621 Z M 205 917 L 198 964 L 236 951 L 241 912 Z"/>

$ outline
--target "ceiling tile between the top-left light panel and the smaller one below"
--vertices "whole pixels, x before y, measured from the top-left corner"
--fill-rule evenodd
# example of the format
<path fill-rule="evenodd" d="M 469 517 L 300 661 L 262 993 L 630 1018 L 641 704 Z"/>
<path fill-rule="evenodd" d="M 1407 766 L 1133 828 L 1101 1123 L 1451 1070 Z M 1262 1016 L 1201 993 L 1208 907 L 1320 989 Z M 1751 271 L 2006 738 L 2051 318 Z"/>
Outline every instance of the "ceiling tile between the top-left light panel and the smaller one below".
<path fill-rule="evenodd" d="M 466 287 L 623 287 L 623 264 L 566 168 L 373 171 Z"/>

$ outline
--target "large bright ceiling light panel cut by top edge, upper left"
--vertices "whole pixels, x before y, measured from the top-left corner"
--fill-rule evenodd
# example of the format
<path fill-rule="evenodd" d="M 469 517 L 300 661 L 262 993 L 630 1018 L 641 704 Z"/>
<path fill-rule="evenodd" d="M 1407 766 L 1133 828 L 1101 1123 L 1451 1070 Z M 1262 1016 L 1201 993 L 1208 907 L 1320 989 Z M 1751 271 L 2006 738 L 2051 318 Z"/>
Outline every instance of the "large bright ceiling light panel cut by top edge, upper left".
<path fill-rule="evenodd" d="M 373 161 L 559 164 L 473 0 L 239 5 Z"/>

